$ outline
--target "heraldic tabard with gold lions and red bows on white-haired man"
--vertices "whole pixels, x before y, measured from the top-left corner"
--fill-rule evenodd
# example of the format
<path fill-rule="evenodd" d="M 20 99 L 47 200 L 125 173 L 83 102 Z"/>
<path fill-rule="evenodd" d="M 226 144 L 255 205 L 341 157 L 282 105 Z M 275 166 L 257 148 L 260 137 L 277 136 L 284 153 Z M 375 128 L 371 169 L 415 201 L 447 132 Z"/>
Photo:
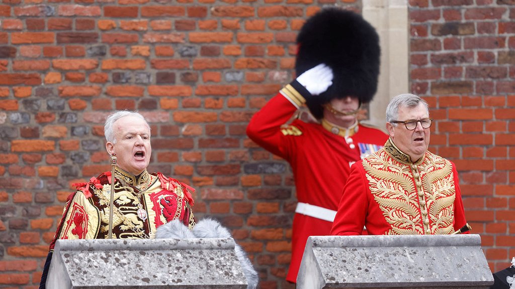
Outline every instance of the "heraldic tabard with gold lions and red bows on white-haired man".
<path fill-rule="evenodd" d="M 161 173 L 138 176 L 116 168 L 113 205 L 113 238 L 149 239 L 156 229 L 174 219 L 189 228 L 195 226 L 192 211 L 193 188 Z M 88 183 L 75 184 L 77 191 L 66 201 L 63 216 L 43 270 L 46 275 L 57 239 L 107 239 L 111 196 L 111 172 L 92 177 Z"/>

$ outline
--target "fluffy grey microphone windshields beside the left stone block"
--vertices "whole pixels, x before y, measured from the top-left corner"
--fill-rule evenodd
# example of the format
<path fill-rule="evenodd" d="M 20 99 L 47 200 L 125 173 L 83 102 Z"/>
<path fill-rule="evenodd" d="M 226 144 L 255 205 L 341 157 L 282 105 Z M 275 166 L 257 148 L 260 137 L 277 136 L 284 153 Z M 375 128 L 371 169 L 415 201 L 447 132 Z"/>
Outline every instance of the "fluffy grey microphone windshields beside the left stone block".
<path fill-rule="evenodd" d="M 194 238 L 231 238 L 229 230 L 222 226 L 218 221 L 204 218 L 200 220 L 193 230 L 175 219 L 161 225 L 156 231 L 156 239 L 194 239 Z M 252 262 L 247 257 L 245 250 L 234 242 L 234 252 L 236 258 L 242 266 L 245 278 L 247 278 L 247 289 L 256 289 L 259 283 L 258 272 L 254 269 Z"/>

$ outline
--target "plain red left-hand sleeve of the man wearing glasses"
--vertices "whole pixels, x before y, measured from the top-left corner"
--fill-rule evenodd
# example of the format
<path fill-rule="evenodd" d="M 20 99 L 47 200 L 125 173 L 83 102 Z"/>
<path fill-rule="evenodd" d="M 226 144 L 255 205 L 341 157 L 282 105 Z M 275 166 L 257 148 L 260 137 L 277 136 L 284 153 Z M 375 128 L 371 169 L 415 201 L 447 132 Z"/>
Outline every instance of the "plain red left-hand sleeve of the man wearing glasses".
<path fill-rule="evenodd" d="M 334 218 L 332 235 L 361 235 L 368 212 L 367 181 L 362 162 L 352 165 Z"/>

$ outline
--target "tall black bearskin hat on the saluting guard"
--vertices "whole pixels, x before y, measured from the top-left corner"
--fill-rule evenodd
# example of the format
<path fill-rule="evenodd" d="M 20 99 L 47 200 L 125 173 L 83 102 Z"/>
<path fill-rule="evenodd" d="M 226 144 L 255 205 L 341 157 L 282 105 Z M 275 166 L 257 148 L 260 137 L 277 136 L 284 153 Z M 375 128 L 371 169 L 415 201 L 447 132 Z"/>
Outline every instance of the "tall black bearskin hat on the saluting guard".
<path fill-rule="evenodd" d="M 333 85 L 306 102 L 315 118 L 323 117 L 322 105 L 334 98 L 351 95 L 361 103 L 372 100 L 377 90 L 381 48 L 379 35 L 361 15 L 324 8 L 302 26 L 297 44 L 297 76 L 320 63 L 333 69 Z"/>

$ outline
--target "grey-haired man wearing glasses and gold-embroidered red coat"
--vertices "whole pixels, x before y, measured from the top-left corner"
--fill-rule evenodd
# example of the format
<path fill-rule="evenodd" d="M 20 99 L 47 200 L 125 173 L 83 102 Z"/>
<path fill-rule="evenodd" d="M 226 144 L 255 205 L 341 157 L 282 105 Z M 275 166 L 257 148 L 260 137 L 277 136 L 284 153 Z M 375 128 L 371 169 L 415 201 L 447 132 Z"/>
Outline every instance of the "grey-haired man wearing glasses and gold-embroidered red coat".
<path fill-rule="evenodd" d="M 386 109 L 390 138 L 356 162 L 344 187 L 333 235 L 451 234 L 466 225 L 455 165 L 427 151 L 427 103 L 413 94 Z"/>

